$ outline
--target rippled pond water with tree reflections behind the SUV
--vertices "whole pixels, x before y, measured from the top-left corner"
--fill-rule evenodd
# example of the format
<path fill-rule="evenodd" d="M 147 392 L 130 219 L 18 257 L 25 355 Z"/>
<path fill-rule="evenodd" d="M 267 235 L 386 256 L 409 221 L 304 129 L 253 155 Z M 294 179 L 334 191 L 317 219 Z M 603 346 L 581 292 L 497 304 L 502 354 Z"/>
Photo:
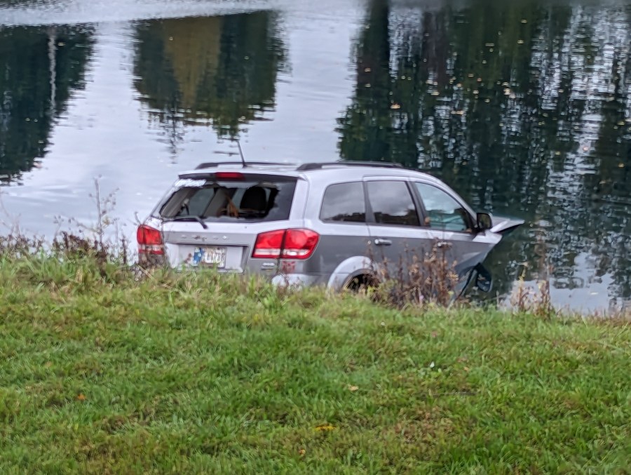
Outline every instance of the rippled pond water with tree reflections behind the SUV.
<path fill-rule="evenodd" d="M 631 302 L 631 6 L 616 2 L 0 0 L 0 222 L 125 234 L 177 170 L 397 161 L 527 225 L 495 290 Z"/>

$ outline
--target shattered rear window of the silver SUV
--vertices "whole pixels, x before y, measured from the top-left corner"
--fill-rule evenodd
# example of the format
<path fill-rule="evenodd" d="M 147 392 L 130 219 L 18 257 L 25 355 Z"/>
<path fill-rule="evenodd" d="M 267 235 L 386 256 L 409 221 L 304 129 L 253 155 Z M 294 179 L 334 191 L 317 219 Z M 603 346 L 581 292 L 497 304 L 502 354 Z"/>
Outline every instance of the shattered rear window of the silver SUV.
<path fill-rule="evenodd" d="M 159 209 L 165 220 L 279 221 L 290 216 L 297 179 L 276 175 L 238 174 L 235 180 L 178 180 Z"/>

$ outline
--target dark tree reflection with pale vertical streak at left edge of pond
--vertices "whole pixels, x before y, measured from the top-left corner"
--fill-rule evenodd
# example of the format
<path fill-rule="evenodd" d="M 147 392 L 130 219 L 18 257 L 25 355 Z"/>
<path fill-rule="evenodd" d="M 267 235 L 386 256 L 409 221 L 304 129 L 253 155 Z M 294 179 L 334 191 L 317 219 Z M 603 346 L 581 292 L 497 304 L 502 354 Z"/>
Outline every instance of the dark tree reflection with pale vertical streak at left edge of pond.
<path fill-rule="evenodd" d="M 43 158 L 53 121 L 85 87 L 92 27 L 0 28 L 0 182 Z"/>

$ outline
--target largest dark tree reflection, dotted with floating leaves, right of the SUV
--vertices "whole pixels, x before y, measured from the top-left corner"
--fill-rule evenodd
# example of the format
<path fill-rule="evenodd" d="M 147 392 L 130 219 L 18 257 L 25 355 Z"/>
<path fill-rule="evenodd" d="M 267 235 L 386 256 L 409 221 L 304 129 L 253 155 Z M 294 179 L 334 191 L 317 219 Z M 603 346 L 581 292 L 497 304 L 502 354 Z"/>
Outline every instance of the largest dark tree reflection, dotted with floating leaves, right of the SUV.
<path fill-rule="evenodd" d="M 530 226 L 489 259 L 557 288 L 611 274 L 631 298 L 631 7 L 369 4 L 341 156 L 443 178 Z"/>

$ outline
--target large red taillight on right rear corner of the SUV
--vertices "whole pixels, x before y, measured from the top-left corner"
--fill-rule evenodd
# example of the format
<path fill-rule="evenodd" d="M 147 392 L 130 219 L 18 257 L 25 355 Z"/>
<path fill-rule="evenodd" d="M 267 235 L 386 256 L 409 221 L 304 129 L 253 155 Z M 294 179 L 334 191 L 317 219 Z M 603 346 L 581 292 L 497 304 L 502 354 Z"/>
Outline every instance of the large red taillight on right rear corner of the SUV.
<path fill-rule="evenodd" d="M 279 229 L 257 236 L 252 257 L 264 259 L 308 259 L 318 245 L 320 234 L 311 229 Z"/>

